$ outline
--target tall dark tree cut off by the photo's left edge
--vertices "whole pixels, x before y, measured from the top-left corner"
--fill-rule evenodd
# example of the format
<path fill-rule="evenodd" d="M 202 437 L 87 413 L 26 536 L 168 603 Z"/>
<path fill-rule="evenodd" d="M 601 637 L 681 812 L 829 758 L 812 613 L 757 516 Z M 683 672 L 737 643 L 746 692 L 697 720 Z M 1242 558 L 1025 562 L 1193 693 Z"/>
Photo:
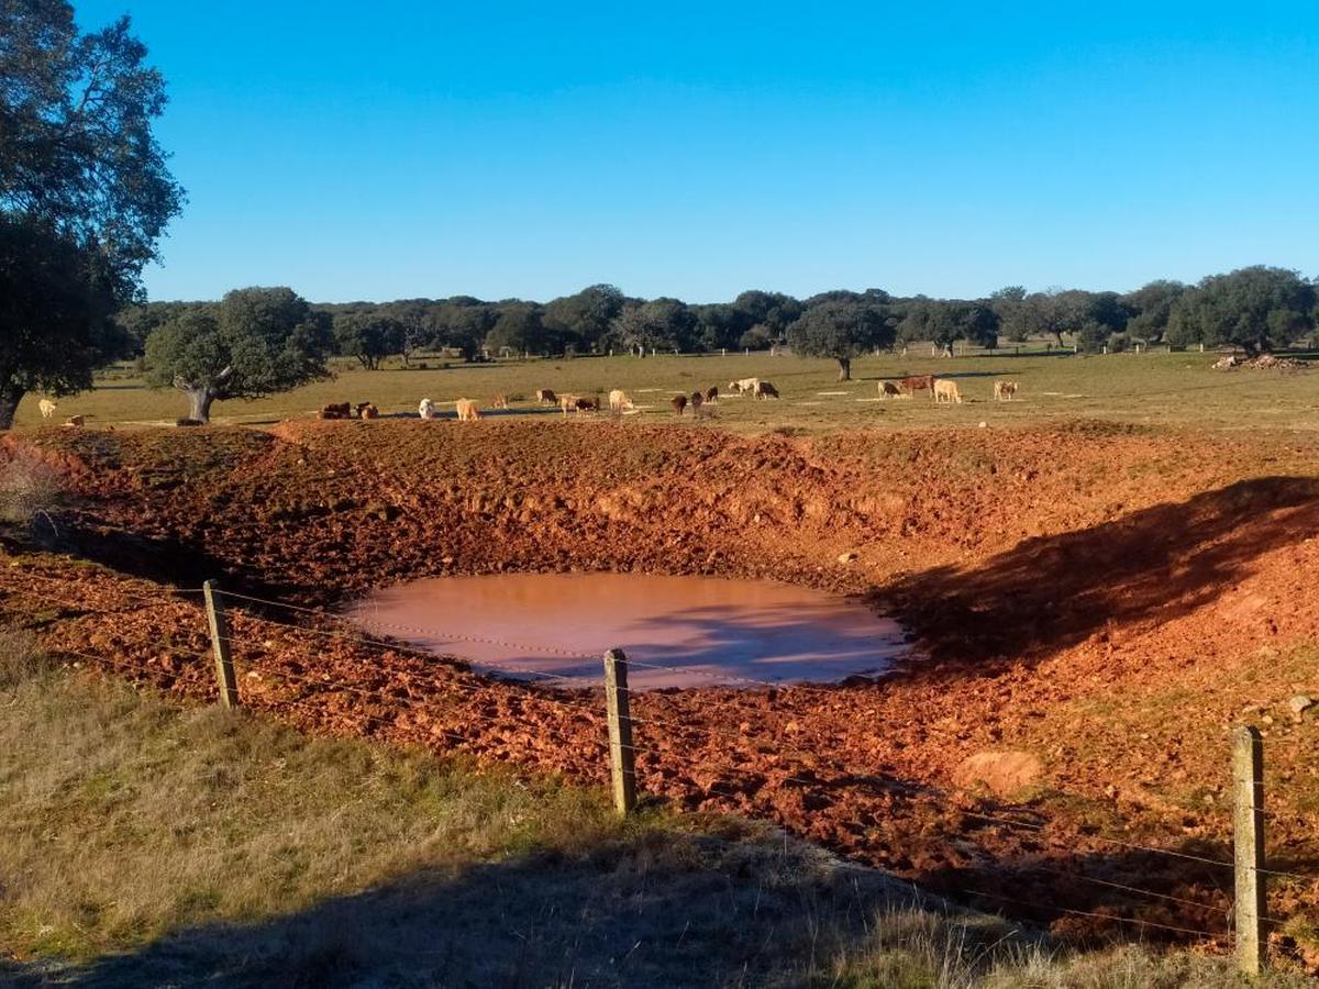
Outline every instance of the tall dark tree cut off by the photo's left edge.
<path fill-rule="evenodd" d="M 119 356 L 182 190 L 152 123 L 165 82 L 127 17 L 79 33 L 63 0 L 0 3 L 0 429 L 34 388 L 69 393 Z M 33 306 L 36 286 L 45 306 Z"/>

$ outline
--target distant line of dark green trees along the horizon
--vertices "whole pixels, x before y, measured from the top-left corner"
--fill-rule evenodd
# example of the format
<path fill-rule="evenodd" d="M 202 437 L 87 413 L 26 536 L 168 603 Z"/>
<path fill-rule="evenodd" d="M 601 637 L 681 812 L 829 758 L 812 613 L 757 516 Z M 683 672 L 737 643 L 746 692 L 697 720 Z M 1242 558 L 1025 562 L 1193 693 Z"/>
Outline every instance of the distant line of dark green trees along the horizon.
<path fill-rule="evenodd" d="M 120 326 L 146 352 L 153 332 L 214 309 L 215 303 L 179 302 L 135 306 L 120 315 Z M 687 303 L 632 298 L 612 285 L 592 285 L 545 303 L 455 295 L 310 305 L 306 314 L 323 347 L 355 357 L 364 368 L 394 355 L 410 363 L 418 352 L 441 349 L 476 360 L 481 355 L 644 356 L 783 344 L 806 356 L 832 357 L 843 378 L 855 357 L 917 340 L 943 349 L 959 342 L 995 348 L 1004 339 L 1039 338 L 1062 345 L 1066 338 L 1091 352 L 1133 343 L 1231 344 L 1254 355 L 1304 336 L 1316 316 L 1316 284 L 1266 266 L 1210 276 L 1196 285 L 1154 281 L 1128 293 L 1031 293 L 1008 286 L 983 299 L 939 299 L 867 289 L 797 299 L 756 290 L 732 302 Z"/>

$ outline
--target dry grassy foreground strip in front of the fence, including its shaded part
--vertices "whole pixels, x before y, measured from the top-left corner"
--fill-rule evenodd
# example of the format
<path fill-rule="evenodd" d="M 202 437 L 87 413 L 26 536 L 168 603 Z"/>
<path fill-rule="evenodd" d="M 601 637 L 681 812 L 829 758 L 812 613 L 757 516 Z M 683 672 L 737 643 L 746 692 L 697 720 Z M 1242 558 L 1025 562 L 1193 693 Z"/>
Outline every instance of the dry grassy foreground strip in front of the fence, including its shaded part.
<path fill-rule="evenodd" d="M 3 630 L 0 705 L 0 984 L 1237 984 L 1064 956 L 749 824 L 170 707 Z"/>

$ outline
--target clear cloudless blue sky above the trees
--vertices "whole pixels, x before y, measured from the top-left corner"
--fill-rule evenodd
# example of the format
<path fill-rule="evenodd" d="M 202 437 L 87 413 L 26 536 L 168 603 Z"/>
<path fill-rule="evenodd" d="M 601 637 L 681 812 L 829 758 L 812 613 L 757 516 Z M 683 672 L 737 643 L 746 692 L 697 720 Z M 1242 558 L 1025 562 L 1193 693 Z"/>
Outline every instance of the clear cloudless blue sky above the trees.
<path fill-rule="evenodd" d="M 75 7 L 169 80 L 157 299 L 1319 274 L 1303 3 Z"/>

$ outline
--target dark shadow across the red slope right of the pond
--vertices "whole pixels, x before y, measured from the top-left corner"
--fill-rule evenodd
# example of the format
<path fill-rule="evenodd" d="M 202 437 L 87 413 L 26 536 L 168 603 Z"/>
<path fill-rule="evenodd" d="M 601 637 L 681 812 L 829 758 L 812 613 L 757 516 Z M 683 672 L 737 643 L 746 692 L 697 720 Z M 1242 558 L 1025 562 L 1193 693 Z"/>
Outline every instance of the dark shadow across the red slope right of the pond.
<path fill-rule="evenodd" d="M 1319 480 L 1257 477 L 1026 539 L 975 568 L 913 574 L 871 600 L 897 611 L 934 659 L 1038 661 L 1109 626 L 1194 612 L 1316 530 Z"/>

